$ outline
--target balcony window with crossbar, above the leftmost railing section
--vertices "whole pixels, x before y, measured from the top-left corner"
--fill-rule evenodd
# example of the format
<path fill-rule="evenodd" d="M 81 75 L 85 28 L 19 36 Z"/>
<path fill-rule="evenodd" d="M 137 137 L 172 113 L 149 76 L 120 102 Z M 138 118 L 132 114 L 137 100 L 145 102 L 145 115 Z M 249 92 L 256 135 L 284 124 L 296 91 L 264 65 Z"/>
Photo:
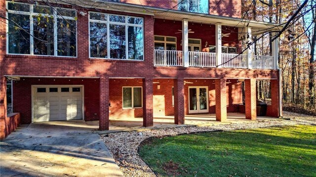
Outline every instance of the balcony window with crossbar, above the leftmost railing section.
<path fill-rule="evenodd" d="M 177 38 L 155 35 L 156 50 L 177 50 Z"/>

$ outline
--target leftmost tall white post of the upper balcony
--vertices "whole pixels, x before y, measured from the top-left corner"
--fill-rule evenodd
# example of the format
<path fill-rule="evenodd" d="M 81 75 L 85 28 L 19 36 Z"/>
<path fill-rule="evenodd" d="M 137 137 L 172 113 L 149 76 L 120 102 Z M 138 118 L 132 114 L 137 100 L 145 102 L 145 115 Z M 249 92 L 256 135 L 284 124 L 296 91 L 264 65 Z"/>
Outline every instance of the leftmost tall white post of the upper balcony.
<path fill-rule="evenodd" d="M 189 31 L 188 31 L 188 19 L 182 20 L 182 51 L 184 67 L 189 67 Z"/>

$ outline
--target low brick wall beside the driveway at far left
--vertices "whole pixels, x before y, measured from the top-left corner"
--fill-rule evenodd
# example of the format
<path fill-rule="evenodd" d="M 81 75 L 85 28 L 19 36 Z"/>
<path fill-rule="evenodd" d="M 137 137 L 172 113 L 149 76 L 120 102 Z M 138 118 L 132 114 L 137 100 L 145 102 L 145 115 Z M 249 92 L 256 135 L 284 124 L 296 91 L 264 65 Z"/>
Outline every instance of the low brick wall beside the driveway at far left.
<path fill-rule="evenodd" d="M 11 113 L 0 119 L 0 140 L 3 140 L 20 125 L 20 113 Z"/>

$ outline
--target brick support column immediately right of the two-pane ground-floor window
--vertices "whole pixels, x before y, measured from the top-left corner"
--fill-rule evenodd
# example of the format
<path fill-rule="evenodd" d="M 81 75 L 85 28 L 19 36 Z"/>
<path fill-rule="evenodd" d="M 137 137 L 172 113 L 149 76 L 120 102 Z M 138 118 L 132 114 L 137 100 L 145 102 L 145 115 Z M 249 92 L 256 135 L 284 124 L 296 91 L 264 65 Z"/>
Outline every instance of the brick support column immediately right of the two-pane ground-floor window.
<path fill-rule="evenodd" d="M 153 78 L 143 79 L 143 126 L 154 126 Z"/>

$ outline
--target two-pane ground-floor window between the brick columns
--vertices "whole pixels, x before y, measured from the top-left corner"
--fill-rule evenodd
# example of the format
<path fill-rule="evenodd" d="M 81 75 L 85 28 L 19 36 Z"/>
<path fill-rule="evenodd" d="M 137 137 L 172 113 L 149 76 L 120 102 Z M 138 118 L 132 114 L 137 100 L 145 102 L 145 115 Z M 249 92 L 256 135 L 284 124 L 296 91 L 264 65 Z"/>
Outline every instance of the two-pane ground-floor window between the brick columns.
<path fill-rule="evenodd" d="M 142 87 L 123 87 L 123 108 L 142 107 Z"/>

